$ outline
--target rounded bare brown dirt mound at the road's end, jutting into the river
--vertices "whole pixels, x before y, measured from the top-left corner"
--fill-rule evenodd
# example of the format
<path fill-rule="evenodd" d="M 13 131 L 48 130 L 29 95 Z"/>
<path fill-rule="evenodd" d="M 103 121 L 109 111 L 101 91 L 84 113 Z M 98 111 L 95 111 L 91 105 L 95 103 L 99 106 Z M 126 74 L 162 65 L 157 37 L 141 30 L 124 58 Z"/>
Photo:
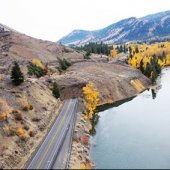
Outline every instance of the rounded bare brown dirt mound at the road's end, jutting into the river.
<path fill-rule="evenodd" d="M 61 98 L 82 96 L 82 87 L 93 82 L 100 92 L 100 105 L 135 96 L 150 85 L 139 70 L 116 63 L 81 62 L 61 76 L 53 76 L 61 88 Z"/>

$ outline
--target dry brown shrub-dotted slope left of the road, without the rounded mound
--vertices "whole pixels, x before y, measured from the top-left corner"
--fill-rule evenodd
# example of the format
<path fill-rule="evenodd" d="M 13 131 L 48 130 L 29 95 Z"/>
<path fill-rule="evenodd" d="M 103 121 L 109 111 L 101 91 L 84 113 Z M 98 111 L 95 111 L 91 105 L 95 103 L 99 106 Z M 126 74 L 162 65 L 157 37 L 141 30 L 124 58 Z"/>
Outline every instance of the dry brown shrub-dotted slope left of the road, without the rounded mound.
<path fill-rule="evenodd" d="M 59 75 L 58 57 L 71 61 L 83 55 L 0 24 L 0 169 L 23 168 L 58 115 L 62 101 L 53 97 L 48 81 L 50 74 Z M 28 63 L 34 58 L 48 64 L 46 76 L 28 75 Z M 10 79 L 14 61 L 25 77 L 20 86 Z"/>

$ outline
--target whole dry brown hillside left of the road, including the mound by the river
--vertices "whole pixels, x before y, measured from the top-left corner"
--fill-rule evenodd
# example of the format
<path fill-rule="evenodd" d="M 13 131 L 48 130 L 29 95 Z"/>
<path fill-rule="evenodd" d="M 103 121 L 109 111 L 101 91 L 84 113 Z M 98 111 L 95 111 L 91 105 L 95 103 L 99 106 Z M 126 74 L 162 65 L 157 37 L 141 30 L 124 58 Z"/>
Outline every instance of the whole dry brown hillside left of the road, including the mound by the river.
<path fill-rule="evenodd" d="M 34 58 L 48 68 L 40 78 L 28 74 Z M 72 65 L 59 70 L 63 58 Z M 57 117 L 62 100 L 82 97 L 82 87 L 89 82 L 100 92 L 100 105 L 135 96 L 150 85 L 139 70 L 124 63 L 108 62 L 108 56 L 102 55 L 90 58 L 0 25 L 0 169 L 24 168 Z M 14 61 L 25 77 L 20 86 L 10 78 Z M 59 86 L 60 99 L 52 95 L 53 82 Z"/>

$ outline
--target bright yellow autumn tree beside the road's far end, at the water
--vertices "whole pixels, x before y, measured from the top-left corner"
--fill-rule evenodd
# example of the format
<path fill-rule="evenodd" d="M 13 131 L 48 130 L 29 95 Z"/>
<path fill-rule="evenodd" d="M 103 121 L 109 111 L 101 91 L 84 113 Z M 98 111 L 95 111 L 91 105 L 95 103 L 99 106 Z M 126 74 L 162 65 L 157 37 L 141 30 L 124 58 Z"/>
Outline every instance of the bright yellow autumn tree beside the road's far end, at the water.
<path fill-rule="evenodd" d="M 91 119 L 94 111 L 99 103 L 99 92 L 93 83 L 87 84 L 83 87 L 83 95 L 85 99 L 86 117 L 85 119 Z"/>

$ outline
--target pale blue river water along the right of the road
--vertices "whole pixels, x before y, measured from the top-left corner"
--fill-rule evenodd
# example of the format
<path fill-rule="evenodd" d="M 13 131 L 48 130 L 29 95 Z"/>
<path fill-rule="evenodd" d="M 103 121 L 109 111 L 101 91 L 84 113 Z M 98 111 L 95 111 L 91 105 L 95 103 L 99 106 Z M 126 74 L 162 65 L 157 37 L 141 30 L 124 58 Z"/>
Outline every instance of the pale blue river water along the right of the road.
<path fill-rule="evenodd" d="M 170 169 L 170 68 L 160 89 L 99 112 L 91 157 L 100 169 Z"/>

